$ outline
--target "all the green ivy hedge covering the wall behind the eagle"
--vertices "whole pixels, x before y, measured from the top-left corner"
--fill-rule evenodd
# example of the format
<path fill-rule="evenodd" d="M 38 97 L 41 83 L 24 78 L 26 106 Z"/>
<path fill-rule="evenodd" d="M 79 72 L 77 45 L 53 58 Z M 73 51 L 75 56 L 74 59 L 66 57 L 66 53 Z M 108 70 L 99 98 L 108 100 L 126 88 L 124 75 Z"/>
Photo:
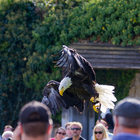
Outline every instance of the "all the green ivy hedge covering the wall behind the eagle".
<path fill-rule="evenodd" d="M 123 17 L 123 12 L 132 10 L 133 5 L 138 10 L 139 1 L 127 2 L 132 7 L 127 5 L 125 11 L 125 1 L 121 0 L 96 3 L 82 0 L 66 3 L 66 0 L 60 0 L 55 6 L 45 7 L 38 3 L 36 7 L 27 0 L 7 0 L 0 3 L 1 132 L 6 124 L 13 127 L 17 125 L 19 110 L 25 103 L 33 99 L 41 101 L 42 90 L 49 80 L 60 81 L 61 70 L 54 68 L 54 58 L 51 55 L 58 52 L 63 44 L 69 45 L 80 39 L 114 42 L 114 38 L 120 38 L 114 44 L 126 45 L 128 34 L 121 31 L 128 32 L 127 25 L 131 24 L 129 41 L 135 45 L 134 42 L 138 41 L 136 35 L 139 31 L 135 30 L 138 28 L 139 16 L 136 12 L 136 20 L 132 22 L 128 20 L 128 16 Z M 122 3 L 123 10 L 118 9 L 118 5 L 116 9 L 112 9 L 110 4 L 117 3 Z M 115 95 L 118 100 L 128 94 L 130 81 L 135 73 L 136 71 L 96 70 L 99 83 L 116 87 Z M 53 120 L 60 123 L 60 113 Z"/>

